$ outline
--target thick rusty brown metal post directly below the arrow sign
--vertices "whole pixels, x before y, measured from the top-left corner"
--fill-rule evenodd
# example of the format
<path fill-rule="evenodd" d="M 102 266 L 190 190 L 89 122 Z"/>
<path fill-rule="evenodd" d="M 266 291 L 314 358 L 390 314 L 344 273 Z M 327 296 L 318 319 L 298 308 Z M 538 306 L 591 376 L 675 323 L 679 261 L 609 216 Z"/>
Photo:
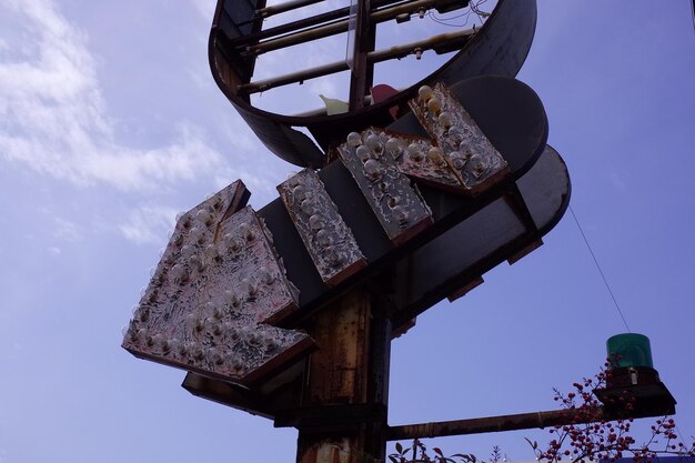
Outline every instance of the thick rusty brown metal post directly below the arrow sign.
<path fill-rule="evenodd" d="M 316 316 L 319 350 L 304 390 L 315 413 L 298 426 L 298 463 L 385 459 L 391 322 L 383 309 L 381 298 L 360 288 Z"/>

